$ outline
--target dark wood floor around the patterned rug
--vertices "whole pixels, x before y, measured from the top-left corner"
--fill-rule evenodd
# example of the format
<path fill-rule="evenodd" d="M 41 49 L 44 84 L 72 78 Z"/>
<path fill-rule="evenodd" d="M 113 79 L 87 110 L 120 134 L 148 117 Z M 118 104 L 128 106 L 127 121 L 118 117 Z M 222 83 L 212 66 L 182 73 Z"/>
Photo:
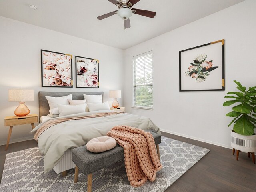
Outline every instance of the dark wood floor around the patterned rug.
<path fill-rule="evenodd" d="M 166 192 L 255 192 L 256 164 L 252 157 L 240 153 L 239 160 L 232 155 L 232 150 L 199 142 L 196 140 L 162 132 L 163 136 L 208 148 L 211 151 L 179 178 Z M 6 153 L 36 147 L 35 140 L 28 140 L 0 146 L 0 178 L 4 168 Z"/>

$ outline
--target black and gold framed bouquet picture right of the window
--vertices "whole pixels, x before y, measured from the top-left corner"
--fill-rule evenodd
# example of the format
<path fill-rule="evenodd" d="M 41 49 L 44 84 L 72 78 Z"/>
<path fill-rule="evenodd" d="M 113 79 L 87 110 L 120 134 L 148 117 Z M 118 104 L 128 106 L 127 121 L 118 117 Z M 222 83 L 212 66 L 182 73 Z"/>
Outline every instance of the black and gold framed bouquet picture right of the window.
<path fill-rule="evenodd" d="M 223 91 L 224 39 L 179 52 L 180 91 Z"/>

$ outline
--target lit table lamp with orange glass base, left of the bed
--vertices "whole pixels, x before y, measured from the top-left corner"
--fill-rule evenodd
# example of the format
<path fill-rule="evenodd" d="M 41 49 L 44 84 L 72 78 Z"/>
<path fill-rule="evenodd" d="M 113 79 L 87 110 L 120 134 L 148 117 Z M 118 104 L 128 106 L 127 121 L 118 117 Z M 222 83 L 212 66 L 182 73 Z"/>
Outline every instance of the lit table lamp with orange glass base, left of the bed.
<path fill-rule="evenodd" d="M 30 110 L 25 101 L 34 101 L 34 90 L 31 89 L 9 89 L 9 101 L 18 101 L 19 106 L 15 109 L 16 116 L 26 116 Z"/>

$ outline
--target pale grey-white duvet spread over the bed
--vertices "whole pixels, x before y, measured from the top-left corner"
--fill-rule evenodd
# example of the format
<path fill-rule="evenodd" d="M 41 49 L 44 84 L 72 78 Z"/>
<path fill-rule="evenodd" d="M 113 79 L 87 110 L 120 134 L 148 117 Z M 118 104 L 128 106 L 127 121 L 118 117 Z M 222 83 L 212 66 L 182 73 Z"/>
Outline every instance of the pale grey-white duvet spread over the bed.
<path fill-rule="evenodd" d="M 91 115 L 98 112 L 106 111 L 85 112 L 57 118 Z M 57 118 L 44 121 L 30 133 L 34 134 L 45 122 Z M 38 138 L 39 150 L 44 154 L 44 172 L 52 170 L 68 149 L 83 146 L 92 138 L 106 136 L 107 132 L 116 125 L 134 126 L 160 134 L 159 128 L 149 118 L 127 113 L 62 122 L 51 126 Z"/>

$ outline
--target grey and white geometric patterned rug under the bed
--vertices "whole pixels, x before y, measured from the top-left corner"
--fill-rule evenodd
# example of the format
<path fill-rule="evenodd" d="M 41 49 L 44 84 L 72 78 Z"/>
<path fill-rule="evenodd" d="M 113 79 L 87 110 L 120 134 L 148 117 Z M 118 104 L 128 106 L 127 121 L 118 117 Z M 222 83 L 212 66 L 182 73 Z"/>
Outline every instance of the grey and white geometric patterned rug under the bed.
<path fill-rule="evenodd" d="M 124 161 L 117 162 L 92 174 L 94 192 L 163 192 L 210 150 L 162 136 L 159 144 L 162 170 L 154 182 L 132 187 L 128 182 Z M 54 170 L 44 174 L 43 156 L 38 147 L 6 155 L 0 185 L 1 192 L 84 192 L 87 176 L 79 172 L 74 184 L 74 168 L 66 177 Z"/>

